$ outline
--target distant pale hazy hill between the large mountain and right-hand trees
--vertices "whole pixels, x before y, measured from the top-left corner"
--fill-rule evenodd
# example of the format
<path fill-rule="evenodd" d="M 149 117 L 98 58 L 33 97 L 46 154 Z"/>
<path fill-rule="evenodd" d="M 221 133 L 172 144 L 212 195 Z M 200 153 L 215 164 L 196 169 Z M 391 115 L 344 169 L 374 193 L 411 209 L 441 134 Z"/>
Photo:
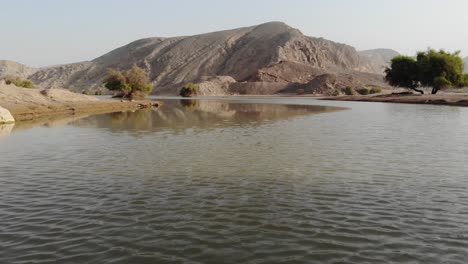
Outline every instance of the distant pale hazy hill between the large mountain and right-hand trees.
<path fill-rule="evenodd" d="M 400 53 L 392 49 L 372 49 L 359 51 L 359 55 L 367 59 L 362 62 L 364 71 L 383 74 L 385 67 L 390 65 L 390 60 Z"/>

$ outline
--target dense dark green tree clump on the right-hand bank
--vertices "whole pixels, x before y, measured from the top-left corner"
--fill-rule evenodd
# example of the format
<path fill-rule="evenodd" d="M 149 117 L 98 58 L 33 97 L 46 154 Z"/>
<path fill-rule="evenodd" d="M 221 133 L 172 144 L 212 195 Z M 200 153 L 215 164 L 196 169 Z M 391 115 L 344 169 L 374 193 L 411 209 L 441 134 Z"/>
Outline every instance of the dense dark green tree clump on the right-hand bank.
<path fill-rule="evenodd" d="M 424 94 L 420 87 L 432 87 L 432 94 L 440 89 L 468 85 L 463 74 L 460 52 L 428 49 L 416 57 L 396 56 L 385 69 L 385 80 L 392 86 L 405 87 Z"/>

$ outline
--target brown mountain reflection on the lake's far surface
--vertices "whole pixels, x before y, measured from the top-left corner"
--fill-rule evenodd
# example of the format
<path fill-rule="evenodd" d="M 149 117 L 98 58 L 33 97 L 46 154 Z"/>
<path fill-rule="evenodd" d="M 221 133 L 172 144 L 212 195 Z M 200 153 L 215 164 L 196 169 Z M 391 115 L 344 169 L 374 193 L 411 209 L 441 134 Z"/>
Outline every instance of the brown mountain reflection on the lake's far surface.
<path fill-rule="evenodd" d="M 167 130 L 179 133 L 189 128 L 255 126 L 296 116 L 338 110 L 342 108 L 210 100 L 163 100 L 163 105 L 156 109 L 90 116 L 71 124 L 107 128 L 113 132 Z"/>

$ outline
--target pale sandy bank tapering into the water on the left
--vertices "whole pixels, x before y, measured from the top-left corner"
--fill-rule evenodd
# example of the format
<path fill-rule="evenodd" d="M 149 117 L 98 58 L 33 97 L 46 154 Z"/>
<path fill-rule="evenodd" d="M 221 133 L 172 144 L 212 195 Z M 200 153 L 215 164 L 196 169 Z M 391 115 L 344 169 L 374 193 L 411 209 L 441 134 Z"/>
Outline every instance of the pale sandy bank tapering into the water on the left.
<path fill-rule="evenodd" d="M 0 83 L 0 106 L 8 109 L 16 121 L 130 111 L 156 105 L 159 102 L 151 100 L 98 99 L 63 89 L 27 89 Z"/>

